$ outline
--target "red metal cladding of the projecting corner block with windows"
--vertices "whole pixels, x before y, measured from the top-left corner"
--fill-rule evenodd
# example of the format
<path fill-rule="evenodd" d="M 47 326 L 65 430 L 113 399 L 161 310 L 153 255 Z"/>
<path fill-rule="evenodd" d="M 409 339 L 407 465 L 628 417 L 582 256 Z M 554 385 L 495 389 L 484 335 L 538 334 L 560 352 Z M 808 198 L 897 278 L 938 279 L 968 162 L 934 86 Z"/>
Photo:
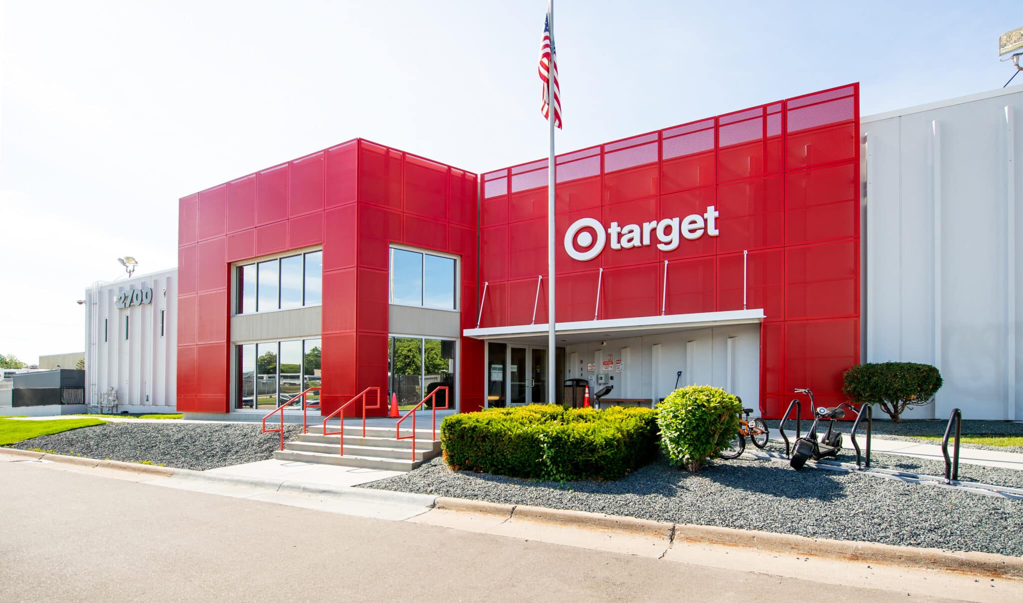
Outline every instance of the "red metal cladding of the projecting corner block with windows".
<path fill-rule="evenodd" d="M 322 414 L 387 390 L 388 249 L 461 257 L 464 326 L 477 308 L 477 176 L 365 140 L 183 197 L 178 410 L 225 413 L 232 262 L 322 244 Z M 483 406 L 483 342 L 460 339 L 461 408 Z M 353 409 L 352 412 L 357 412 Z"/>

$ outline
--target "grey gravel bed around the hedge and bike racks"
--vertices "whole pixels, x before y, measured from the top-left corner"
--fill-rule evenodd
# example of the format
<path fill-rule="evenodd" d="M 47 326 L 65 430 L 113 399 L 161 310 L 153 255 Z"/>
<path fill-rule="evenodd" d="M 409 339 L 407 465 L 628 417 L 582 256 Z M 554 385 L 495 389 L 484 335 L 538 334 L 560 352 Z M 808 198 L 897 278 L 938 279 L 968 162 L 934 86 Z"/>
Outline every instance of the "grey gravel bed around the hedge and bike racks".
<path fill-rule="evenodd" d="M 772 450 L 783 448 L 769 445 Z M 843 455 L 841 461 L 854 457 Z M 943 464 L 877 454 L 875 466 L 942 474 Z M 1023 485 L 1023 472 L 961 466 L 961 478 Z M 663 458 L 617 481 L 549 482 L 452 471 L 440 458 L 364 488 L 577 509 L 806 537 L 1023 555 L 1023 501 L 743 456 L 686 473 Z"/>

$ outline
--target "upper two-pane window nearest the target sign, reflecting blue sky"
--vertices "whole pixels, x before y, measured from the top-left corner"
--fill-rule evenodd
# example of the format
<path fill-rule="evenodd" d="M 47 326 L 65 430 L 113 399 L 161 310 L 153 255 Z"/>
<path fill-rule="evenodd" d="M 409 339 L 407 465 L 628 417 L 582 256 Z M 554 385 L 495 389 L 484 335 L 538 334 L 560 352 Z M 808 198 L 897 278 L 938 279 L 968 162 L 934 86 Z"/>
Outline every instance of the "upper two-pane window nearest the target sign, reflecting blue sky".
<path fill-rule="evenodd" d="M 391 304 L 455 309 L 455 260 L 391 248 Z"/>

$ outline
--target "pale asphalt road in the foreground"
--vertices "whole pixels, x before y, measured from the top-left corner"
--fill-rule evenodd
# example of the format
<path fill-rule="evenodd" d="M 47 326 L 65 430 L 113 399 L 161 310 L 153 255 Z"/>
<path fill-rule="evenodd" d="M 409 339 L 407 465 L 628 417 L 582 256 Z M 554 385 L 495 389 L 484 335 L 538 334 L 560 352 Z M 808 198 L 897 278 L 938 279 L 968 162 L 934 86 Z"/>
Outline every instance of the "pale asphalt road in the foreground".
<path fill-rule="evenodd" d="M 0 463 L 0 601 L 905 601 Z M 915 601 L 937 601 L 914 596 Z"/>

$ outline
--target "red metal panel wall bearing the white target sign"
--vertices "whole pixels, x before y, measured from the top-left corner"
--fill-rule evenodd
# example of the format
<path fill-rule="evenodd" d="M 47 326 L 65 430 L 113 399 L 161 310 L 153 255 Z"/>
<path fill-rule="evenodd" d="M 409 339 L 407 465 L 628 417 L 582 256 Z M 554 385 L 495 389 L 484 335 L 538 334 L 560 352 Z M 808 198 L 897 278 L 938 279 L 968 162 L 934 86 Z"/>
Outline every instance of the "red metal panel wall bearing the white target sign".
<path fill-rule="evenodd" d="M 832 406 L 859 362 L 859 87 L 825 90 L 559 155 L 558 321 L 762 308 L 762 413 L 795 387 Z M 547 161 L 483 175 L 483 327 L 529 324 L 546 275 Z M 720 235 L 573 260 L 569 225 L 642 224 L 714 205 Z M 603 279 L 599 269 L 604 269 Z M 547 320 L 540 292 L 537 322 Z M 482 372 L 482 368 L 481 368 Z M 809 410 L 807 410 L 809 412 Z"/>

